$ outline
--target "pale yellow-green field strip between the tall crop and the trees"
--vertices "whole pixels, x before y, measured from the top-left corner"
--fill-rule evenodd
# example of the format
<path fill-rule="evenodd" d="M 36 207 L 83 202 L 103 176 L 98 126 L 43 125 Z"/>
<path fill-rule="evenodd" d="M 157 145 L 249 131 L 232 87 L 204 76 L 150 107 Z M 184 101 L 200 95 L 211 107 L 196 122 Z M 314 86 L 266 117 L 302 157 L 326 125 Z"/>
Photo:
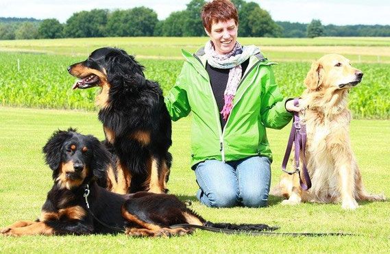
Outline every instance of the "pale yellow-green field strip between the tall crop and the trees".
<path fill-rule="evenodd" d="M 87 56 L 99 47 L 119 47 L 138 58 L 181 59 L 181 49 L 195 52 L 206 37 L 69 38 L 56 40 L 1 40 L 1 51 Z M 276 61 L 315 60 L 325 53 L 342 53 L 354 62 L 390 63 L 390 38 L 239 38 L 257 45 Z"/>

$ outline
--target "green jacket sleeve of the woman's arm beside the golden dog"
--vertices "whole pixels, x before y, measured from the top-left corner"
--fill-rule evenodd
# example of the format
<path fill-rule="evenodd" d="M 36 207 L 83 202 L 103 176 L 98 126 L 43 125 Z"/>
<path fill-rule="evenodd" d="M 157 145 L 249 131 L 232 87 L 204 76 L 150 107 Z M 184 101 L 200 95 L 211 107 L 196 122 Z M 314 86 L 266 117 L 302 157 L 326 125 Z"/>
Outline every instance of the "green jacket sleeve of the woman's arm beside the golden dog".
<path fill-rule="evenodd" d="M 286 126 L 293 114 L 287 112 L 285 104 L 290 98 L 283 98 L 278 85 L 275 83 L 271 66 L 263 66 L 260 71 L 262 93 L 260 114 L 263 124 L 267 128 L 282 129 Z"/>

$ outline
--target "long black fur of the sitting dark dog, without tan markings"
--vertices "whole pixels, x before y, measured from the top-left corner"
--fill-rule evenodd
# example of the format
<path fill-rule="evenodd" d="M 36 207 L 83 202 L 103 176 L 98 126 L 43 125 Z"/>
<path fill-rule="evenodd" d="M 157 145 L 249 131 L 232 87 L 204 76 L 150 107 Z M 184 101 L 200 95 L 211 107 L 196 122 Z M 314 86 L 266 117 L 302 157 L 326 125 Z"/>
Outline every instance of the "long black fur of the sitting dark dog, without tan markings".
<path fill-rule="evenodd" d="M 129 192 L 147 190 L 147 161 L 151 156 L 171 166 L 171 118 L 164 104 L 162 90 L 157 82 L 145 79 L 144 67 L 132 55 L 121 49 L 101 48 L 90 57 L 77 63 L 104 73 L 110 84 L 108 107 L 99 110 L 99 120 L 115 134 L 113 143 L 106 140 L 106 147 L 114 160 L 132 174 Z M 72 68 L 69 67 L 72 74 Z M 147 146 L 129 138 L 136 131 L 148 131 Z"/>

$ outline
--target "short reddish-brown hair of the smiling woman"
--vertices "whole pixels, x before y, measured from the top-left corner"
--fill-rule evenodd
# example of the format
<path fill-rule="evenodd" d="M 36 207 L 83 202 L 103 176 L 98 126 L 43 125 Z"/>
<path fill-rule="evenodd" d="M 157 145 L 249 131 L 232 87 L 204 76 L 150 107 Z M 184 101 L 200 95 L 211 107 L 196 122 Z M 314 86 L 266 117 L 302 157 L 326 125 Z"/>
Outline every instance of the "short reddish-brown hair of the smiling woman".
<path fill-rule="evenodd" d="M 213 23 L 230 21 L 232 18 L 239 25 L 236 5 L 229 0 L 213 0 L 202 7 L 202 23 L 209 33 Z"/>

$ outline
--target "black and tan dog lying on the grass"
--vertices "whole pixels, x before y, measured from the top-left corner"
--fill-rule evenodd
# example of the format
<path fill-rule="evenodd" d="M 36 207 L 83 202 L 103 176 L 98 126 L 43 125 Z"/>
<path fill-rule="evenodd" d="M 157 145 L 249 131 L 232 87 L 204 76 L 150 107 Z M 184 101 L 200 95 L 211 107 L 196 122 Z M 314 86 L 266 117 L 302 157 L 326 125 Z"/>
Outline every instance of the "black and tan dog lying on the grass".
<path fill-rule="evenodd" d="M 101 188 L 97 180 L 105 177 L 111 155 L 97 138 L 75 129 L 56 131 L 43 152 L 53 170 L 54 185 L 40 217 L 0 229 L 3 236 L 115 233 L 115 228 L 123 229 L 128 236 L 191 233 L 186 227 L 170 228 L 177 224 L 247 231 L 276 229 L 264 224 L 210 223 L 172 194 L 117 194 Z M 87 184 L 89 194 L 85 197 Z"/>

